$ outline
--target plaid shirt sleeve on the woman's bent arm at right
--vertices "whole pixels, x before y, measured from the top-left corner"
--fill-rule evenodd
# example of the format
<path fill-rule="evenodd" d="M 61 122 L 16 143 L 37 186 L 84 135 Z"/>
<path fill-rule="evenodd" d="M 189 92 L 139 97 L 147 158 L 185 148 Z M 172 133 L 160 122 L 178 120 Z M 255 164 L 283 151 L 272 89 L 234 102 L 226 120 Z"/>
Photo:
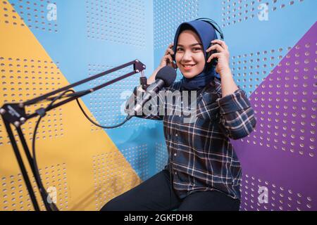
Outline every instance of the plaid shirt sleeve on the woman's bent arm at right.
<path fill-rule="evenodd" d="M 230 139 L 242 139 L 256 127 L 256 117 L 247 94 L 242 89 L 218 98 L 220 109 L 220 129 Z"/>

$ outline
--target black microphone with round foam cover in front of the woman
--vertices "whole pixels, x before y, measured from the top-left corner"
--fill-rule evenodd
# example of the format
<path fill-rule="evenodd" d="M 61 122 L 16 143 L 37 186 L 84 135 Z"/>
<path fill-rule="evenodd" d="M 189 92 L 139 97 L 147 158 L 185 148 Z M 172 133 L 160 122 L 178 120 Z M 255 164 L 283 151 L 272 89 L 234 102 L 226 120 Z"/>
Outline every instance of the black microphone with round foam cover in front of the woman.
<path fill-rule="evenodd" d="M 145 91 L 142 101 L 139 101 L 135 104 L 135 106 L 130 110 L 131 113 L 128 115 L 128 120 L 131 119 L 134 115 L 142 111 L 142 108 L 147 101 L 151 99 L 154 94 L 158 94 L 163 87 L 168 87 L 175 82 L 176 79 L 176 70 L 168 65 L 161 68 L 159 72 L 157 72 L 155 76 L 155 82 L 147 87 L 147 91 Z M 131 115 L 132 114 L 132 115 Z"/>

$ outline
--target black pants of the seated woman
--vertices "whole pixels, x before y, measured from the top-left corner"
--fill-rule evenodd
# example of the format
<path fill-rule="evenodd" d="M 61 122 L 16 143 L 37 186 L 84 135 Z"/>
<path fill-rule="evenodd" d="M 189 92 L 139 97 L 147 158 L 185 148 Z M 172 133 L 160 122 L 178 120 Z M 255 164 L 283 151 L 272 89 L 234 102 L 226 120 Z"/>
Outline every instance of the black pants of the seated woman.
<path fill-rule="evenodd" d="M 170 193 L 172 191 L 172 193 Z M 199 191 L 178 198 L 170 186 L 170 174 L 163 170 L 139 186 L 119 195 L 102 207 L 102 211 L 206 211 L 239 210 L 240 200 L 219 191 Z"/>

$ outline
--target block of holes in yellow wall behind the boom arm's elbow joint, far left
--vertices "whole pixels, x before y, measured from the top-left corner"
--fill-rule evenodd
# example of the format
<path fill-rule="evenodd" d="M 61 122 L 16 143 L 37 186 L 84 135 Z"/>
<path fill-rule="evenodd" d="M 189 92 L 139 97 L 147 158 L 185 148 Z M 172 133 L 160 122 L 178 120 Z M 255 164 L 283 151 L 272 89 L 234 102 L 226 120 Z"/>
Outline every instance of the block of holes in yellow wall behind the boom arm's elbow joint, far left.
<path fill-rule="evenodd" d="M 52 61 L 0 56 L 0 70 L 1 94 L 4 103 L 23 102 L 62 86 L 61 73 Z M 37 108 L 47 105 L 48 103 L 40 103 L 28 106 L 26 113 L 33 113 Z M 32 140 L 34 127 L 35 120 L 28 121 L 27 126 L 23 127 L 26 139 Z M 0 124 L 0 128 L 0 146 L 9 144 L 8 136 L 2 134 L 5 131 L 2 124 Z M 52 139 L 58 136 L 63 136 L 63 108 L 49 112 L 42 120 L 37 133 L 37 139 Z"/>

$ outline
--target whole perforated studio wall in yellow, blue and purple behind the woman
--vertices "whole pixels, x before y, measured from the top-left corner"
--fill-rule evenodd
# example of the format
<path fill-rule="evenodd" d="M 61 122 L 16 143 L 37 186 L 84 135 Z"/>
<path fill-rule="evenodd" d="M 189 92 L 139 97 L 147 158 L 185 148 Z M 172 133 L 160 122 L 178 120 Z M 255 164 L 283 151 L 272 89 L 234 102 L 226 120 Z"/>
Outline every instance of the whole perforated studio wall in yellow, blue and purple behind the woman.
<path fill-rule="evenodd" d="M 237 84 L 249 94 L 258 122 L 251 135 L 232 141 L 246 174 L 241 186 L 241 210 L 316 210 L 316 41 L 311 41 L 308 48 L 306 40 L 299 43 L 297 49 L 294 46 L 316 21 L 311 19 L 311 12 L 316 8 L 314 2 L 219 1 L 218 8 L 217 1 L 154 0 L 152 9 L 147 7 L 152 6 L 149 1 L 13 0 L 12 8 L 3 0 L 0 1 L 0 28 L 6 32 L 1 33 L 1 103 L 25 101 L 34 97 L 33 94 L 68 84 L 67 80 L 75 82 L 141 56 L 148 60 L 143 63 L 147 64 L 149 75 L 152 62 L 151 50 L 147 50 L 152 43 L 149 26 L 152 22 L 147 21 L 149 12 L 154 13 L 156 64 L 173 41 L 180 23 L 211 17 L 223 25 L 225 41 L 233 56 L 232 72 Z M 51 9 L 46 7 L 51 3 L 56 3 L 58 9 L 61 7 L 57 12 L 58 18 L 61 15 L 63 20 L 47 19 Z M 258 21 L 260 4 L 268 4 L 266 22 Z M 109 56 L 109 52 L 113 55 Z M 58 74 L 58 65 L 51 63 L 53 60 L 47 53 L 61 62 L 66 77 Z M 285 57 L 287 54 L 290 58 Z M 118 115 L 117 106 L 124 100 L 118 96 L 123 89 L 134 88 L 139 82 L 137 76 L 134 78 L 137 80 L 131 79 L 131 83 L 127 80 L 127 83 L 111 86 L 108 92 L 86 98 L 85 103 L 92 112 L 85 108 L 87 113 L 101 124 L 121 122 L 124 116 Z M 40 106 L 43 105 L 37 108 Z M 27 141 L 30 141 L 32 127 L 34 123 L 23 127 Z M 61 196 L 63 200 L 58 200 L 58 204 L 63 204 L 58 205 L 60 209 L 99 210 L 108 200 L 141 182 L 135 172 L 144 179 L 165 165 L 167 150 L 161 142 L 161 127 L 155 122 L 134 119 L 122 128 L 108 134 L 113 135 L 111 139 L 120 145 L 124 156 L 104 130 L 96 129 L 85 120 L 75 104 L 52 111 L 44 119 L 37 136 L 38 160 L 40 167 L 49 168 L 49 179 L 42 175 L 45 186 L 55 179 L 53 185 L 61 188 L 58 194 L 65 194 Z M 148 141 L 146 146 L 143 146 L 144 138 Z M 1 186 L 1 195 L 6 198 L 6 202 L 0 201 L 1 209 L 32 210 L 30 200 L 25 197 L 26 190 L 20 193 L 20 185 L 25 185 L 1 121 L 0 147 L 0 179 L 1 185 L 6 186 Z M 89 158 L 92 160 L 87 160 Z M 67 165 L 67 184 L 64 174 L 56 172 L 58 162 L 66 163 L 59 168 Z M 259 186 L 268 188 L 266 204 L 257 199 Z M 8 192 L 11 187 L 15 189 Z"/>

